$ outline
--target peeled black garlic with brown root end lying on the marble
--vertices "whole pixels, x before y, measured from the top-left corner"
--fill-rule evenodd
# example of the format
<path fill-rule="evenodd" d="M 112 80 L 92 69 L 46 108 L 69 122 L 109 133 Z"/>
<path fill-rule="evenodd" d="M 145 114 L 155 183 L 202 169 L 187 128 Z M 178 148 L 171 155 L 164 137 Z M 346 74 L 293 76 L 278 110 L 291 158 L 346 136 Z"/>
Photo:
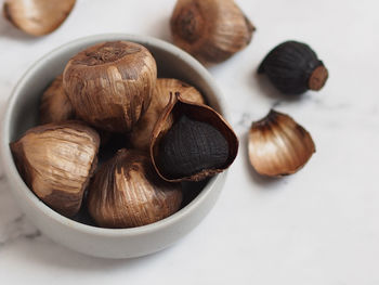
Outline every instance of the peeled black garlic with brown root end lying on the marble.
<path fill-rule="evenodd" d="M 285 94 L 321 90 L 328 70 L 317 54 L 305 43 L 286 41 L 274 48 L 261 63 L 258 73 L 265 74 Z"/>

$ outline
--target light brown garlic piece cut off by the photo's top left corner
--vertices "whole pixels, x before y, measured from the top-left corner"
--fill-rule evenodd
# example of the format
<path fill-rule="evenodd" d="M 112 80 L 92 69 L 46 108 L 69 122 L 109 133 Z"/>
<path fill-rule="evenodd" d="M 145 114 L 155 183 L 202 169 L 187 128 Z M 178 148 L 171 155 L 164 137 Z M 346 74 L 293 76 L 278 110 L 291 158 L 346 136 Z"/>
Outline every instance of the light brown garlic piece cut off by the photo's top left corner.
<path fill-rule="evenodd" d="M 43 36 L 62 25 L 75 2 L 75 0 L 5 0 L 3 15 L 26 34 Z"/>

